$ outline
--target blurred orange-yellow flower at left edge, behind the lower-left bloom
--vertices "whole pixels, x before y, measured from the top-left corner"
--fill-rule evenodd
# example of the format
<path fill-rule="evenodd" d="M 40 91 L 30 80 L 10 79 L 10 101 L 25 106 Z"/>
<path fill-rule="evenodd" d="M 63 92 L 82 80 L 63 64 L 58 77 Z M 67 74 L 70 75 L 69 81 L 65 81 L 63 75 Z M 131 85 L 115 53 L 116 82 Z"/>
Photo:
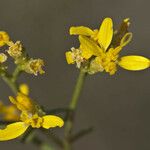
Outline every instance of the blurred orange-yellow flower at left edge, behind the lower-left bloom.
<path fill-rule="evenodd" d="M 14 105 L 4 105 L 0 101 L 0 115 L 2 119 L 5 121 L 18 121 L 20 118 L 20 112 L 18 111 L 17 107 Z"/>

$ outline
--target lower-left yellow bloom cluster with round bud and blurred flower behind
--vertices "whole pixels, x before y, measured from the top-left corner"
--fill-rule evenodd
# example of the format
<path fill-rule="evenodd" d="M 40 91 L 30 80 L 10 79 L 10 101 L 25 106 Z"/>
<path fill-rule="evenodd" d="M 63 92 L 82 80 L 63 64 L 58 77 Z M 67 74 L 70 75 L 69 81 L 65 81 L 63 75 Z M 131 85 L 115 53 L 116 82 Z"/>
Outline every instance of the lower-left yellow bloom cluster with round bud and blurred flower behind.
<path fill-rule="evenodd" d="M 28 94 L 28 87 L 23 84 L 16 98 L 9 97 L 12 105 L 4 106 L 0 103 L 0 114 L 3 115 L 3 119 L 16 121 L 0 129 L 0 141 L 11 140 L 22 135 L 29 126 L 45 129 L 63 126 L 64 122 L 60 117 L 46 115 Z"/>

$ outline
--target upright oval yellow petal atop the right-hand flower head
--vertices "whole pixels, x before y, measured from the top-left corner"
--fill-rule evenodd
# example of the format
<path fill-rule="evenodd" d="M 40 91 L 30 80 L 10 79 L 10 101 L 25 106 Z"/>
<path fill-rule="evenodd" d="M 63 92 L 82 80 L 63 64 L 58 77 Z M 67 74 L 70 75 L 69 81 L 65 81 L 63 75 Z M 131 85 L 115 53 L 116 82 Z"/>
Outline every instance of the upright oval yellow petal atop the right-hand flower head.
<path fill-rule="evenodd" d="M 113 36 L 113 22 L 111 18 L 105 18 L 102 22 L 102 25 L 100 26 L 100 30 L 98 33 L 98 42 L 100 46 L 104 49 L 104 51 L 107 50 L 108 46 L 111 43 Z"/>

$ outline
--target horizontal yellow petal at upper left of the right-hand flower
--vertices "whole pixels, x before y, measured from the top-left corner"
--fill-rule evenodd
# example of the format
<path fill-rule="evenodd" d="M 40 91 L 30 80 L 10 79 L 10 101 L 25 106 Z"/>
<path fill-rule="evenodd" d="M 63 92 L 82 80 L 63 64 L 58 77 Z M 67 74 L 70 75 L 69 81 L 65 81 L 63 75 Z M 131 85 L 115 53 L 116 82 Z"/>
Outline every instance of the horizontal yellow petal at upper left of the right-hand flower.
<path fill-rule="evenodd" d="M 88 27 L 79 26 L 79 27 L 71 27 L 70 28 L 70 35 L 91 36 L 93 34 L 94 34 L 94 32 Z"/>

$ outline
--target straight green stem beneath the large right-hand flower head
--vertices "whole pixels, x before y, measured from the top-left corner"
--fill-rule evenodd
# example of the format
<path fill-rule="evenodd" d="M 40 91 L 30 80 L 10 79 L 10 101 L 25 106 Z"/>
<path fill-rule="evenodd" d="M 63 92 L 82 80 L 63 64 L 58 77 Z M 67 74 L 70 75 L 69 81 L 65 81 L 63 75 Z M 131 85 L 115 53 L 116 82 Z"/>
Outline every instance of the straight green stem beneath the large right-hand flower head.
<path fill-rule="evenodd" d="M 74 115 L 76 111 L 76 107 L 78 104 L 79 96 L 83 88 L 83 84 L 85 81 L 86 72 L 84 72 L 83 69 L 80 70 L 79 77 L 77 79 L 77 83 L 73 92 L 72 99 L 69 104 L 70 113 L 68 114 L 68 118 L 65 125 L 65 140 L 64 140 L 64 150 L 71 150 L 71 134 L 72 134 L 72 128 L 73 128 L 73 122 L 74 122 Z"/>

